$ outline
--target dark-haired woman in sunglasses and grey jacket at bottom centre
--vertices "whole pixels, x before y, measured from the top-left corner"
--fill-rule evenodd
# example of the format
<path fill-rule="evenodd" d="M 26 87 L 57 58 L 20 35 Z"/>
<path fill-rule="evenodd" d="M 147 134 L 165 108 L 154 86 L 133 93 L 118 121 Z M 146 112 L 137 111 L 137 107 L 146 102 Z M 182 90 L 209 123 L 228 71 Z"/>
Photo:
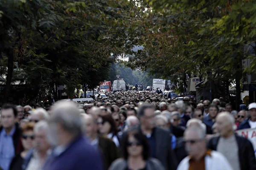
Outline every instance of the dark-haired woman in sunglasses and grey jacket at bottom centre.
<path fill-rule="evenodd" d="M 109 170 L 164 170 L 160 161 L 149 158 L 150 147 L 143 134 L 131 131 L 123 142 L 123 158 L 114 161 Z"/>

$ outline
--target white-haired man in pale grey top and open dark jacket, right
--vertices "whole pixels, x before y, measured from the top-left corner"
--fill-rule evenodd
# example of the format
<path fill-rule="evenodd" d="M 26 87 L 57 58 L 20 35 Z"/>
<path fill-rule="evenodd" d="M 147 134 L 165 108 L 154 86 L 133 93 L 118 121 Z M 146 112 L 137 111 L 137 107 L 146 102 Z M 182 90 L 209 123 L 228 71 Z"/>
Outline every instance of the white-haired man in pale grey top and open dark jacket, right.
<path fill-rule="evenodd" d="M 220 136 L 209 141 L 209 149 L 222 153 L 233 170 L 256 170 L 256 159 L 251 142 L 234 133 L 235 119 L 229 112 L 220 113 L 216 128 Z"/>

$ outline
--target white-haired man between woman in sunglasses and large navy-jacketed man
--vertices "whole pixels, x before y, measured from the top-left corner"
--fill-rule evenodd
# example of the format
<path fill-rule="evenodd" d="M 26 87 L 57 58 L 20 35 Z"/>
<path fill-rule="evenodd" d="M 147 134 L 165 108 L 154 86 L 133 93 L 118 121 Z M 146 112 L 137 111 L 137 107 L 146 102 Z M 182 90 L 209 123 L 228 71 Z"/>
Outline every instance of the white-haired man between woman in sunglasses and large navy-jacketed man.
<path fill-rule="evenodd" d="M 23 161 L 25 170 L 41 170 L 45 160 L 50 155 L 50 144 L 47 142 L 48 124 L 45 121 L 38 122 L 34 127 L 35 148 L 30 150 Z"/>

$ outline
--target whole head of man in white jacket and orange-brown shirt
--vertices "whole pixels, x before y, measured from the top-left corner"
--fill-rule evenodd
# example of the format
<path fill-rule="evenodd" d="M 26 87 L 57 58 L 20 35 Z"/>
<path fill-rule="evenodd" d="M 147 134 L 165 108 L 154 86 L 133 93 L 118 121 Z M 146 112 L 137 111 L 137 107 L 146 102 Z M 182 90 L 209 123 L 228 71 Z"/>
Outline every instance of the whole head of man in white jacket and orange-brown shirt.
<path fill-rule="evenodd" d="M 185 130 L 184 141 L 186 151 L 195 159 L 201 159 L 203 153 L 207 150 L 207 141 L 205 130 L 201 126 L 192 126 Z"/>

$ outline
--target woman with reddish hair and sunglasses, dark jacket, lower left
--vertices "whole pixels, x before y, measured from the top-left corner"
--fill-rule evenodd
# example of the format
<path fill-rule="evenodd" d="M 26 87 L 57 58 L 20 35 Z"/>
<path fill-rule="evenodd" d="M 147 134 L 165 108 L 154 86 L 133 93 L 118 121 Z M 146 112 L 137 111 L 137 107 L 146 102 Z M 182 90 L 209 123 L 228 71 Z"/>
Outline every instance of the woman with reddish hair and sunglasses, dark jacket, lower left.
<path fill-rule="evenodd" d="M 10 165 L 9 170 L 22 170 L 22 164 L 26 157 L 27 152 L 33 147 L 35 135 L 33 132 L 34 123 L 26 123 L 22 127 L 21 142 L 24 148 L 23 152 L 17 154 Z"/>

